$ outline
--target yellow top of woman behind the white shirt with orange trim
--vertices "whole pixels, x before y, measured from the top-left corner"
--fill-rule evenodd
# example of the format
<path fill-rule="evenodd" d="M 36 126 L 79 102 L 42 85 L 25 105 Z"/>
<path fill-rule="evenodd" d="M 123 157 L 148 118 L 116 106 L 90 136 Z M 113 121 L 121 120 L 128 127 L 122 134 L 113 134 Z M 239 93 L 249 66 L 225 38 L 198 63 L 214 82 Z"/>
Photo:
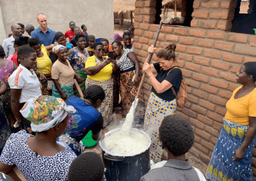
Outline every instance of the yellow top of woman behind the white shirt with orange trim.
<path fill-rule="evenodd" d="M 41 52 L 43 52 L 44 56 L 37 57 L 36 61 L 42 72 L 45 74 L 51 73 L 52 70 L 52 61 L 49 58 L 49 52 L 46 50 L 44 45 L 42 45 Z M 36 70 L 37 72 L 40 72 L 39 69 Z"/>

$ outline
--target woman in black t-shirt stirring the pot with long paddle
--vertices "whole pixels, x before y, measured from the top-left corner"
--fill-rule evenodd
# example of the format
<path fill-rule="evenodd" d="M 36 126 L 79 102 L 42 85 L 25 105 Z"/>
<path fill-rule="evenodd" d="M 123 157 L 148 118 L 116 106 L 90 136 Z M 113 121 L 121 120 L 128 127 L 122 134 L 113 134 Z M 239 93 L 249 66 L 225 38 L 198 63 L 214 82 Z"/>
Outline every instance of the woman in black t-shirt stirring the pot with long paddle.
<path fill-rule="evenodd" d="M 168 45 L 156 54 L 157 63 L 148 64 L 146 60 L 143 65 L 143 71 L 147 73 L 153 85 L 145 113 L 144 129 L 152 139 L 150 159 L 155 163 L 161 161 L 163 154 L 164 157 L 167 155 L 166 152 L 163 152 L 159 141 L 159 126 L 161 126 L 159 121 L 167 115 L 175 113 L 177 102 L 171 87 L 178 94 L 182 82 L 182 71 L 178 68 L 173 69 L 175 67 L 175 48 L 175 44 Z M 156 48 L 151 45 L 148 48 L 148 53 L 154 53 L 155 50 Z M 156 77 L 154 73 L 157 73 Z"/>

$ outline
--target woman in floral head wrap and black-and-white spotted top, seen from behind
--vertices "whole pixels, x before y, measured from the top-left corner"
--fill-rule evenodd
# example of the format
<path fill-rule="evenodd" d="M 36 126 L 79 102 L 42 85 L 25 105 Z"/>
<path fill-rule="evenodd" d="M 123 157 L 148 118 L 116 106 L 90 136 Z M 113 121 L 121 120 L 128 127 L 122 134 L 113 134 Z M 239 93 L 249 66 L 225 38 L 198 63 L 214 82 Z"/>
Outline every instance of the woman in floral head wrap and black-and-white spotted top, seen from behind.
<path fill-rule="evenodd" d="M 17 166 L 27 181 L 67 180 L 70 164 L 76 154 L 57 138 L 65 131 L 68 113 L 75 113 L 73 106 L 67 106 L 63 99 L 52 96 L 31 98 L 20 113 L 31 121 L 35 136 L 22 130 L 6 141 L 0 157 L 0 171 L 13 180 Z"/>

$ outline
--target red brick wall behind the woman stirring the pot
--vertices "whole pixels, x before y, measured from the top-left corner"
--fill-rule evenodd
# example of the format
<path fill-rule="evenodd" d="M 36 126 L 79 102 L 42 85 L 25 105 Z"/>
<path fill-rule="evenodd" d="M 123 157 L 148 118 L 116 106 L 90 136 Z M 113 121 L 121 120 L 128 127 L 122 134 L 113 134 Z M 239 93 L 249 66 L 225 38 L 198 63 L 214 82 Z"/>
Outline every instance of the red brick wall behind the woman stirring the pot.
<path fill-rule="evenodd" d="M 153 22 L 156 1 L 137 0 L 134 43 L 141 67 L 147 58 L 148 46 L 153 44 L 158 25 Z M 157 52 L 169 43 L 175 43 L 177 63 L 188 86 L 188 102 L 177 108 L 177 115 L 188 119 L 195 131 L 195 145 L 190 152 L 209 163 L 212 150 L 223 126 L 223 117 L 232 91 L 239 86 L 236 72 L 244 62 L 256 61 L 255 35 L 230 33 L 236 2 L 196 0 L 191 27 L 162 27 L 157 41 Z M 156 62 L 156 55 L 152 62 Z M 145 105 L 150 96 L 151 82 L 143 83 Z M 256 153 L 256 150 L 255 150 Z M 253 157 L 253 165 L 256 159 Z M 256 167 L 253 166 L 256 175 Z"/>

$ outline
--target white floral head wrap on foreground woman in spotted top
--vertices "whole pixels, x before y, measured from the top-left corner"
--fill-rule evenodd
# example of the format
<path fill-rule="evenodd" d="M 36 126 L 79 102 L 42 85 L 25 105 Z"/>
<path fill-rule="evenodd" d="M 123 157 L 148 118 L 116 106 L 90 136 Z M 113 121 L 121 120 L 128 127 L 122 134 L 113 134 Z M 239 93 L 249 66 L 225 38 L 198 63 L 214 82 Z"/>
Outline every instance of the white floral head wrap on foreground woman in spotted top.
<path fill-rule="evenodd" d="M 37 102 L 38 97 L 31 98 L 20 110 L 24 118 L 31 121 L 31 129 L 42 132 L 51 129 L 63 121 L 68 113 L 75 113 L 73 106 L 67 106 L 63 99 L 44 96 L 44 100 Z"/>

